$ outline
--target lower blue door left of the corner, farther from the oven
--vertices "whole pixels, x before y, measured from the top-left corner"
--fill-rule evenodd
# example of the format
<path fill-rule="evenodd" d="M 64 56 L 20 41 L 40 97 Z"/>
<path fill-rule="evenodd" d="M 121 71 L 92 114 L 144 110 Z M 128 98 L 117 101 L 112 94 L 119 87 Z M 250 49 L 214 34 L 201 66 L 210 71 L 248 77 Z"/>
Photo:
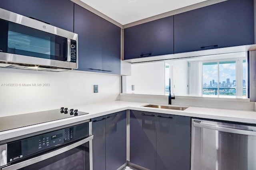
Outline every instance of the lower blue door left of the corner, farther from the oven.
<path fill-rule="evenodd" d="M 126 163 L 126 111 L 106 116 L 106 170 Z"/>

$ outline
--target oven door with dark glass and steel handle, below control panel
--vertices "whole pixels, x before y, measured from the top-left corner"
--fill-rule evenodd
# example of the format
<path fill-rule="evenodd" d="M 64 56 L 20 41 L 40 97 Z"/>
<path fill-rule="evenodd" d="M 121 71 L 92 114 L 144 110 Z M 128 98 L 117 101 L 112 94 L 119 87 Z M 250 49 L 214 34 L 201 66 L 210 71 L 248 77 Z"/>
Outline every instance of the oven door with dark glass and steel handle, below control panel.
<path fill-rule="evenodd" d="M 1 170 L 92 170 L 92 139 L 93 135 Z"/>

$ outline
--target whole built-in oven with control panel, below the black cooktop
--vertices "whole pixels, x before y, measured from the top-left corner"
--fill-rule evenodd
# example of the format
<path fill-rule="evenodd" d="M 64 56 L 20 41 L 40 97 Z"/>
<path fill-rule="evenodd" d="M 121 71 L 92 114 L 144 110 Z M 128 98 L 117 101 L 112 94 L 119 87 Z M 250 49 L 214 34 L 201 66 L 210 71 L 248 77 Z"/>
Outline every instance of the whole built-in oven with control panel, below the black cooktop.
<path fill-rule="evenodd" d="M 0 145 L 0 170 L 92 170 L 92 122 Z"/>

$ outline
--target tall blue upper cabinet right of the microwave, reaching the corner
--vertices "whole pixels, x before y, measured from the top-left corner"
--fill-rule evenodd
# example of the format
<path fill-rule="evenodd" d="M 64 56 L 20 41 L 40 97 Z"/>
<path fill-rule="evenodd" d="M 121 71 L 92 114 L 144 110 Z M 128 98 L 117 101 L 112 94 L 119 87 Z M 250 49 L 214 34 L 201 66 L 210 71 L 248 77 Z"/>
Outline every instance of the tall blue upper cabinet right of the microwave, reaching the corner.
<path fill-rule="evenodd" d="M 78 70 L 120 74 L 121 28 L 75 4 Z"/>

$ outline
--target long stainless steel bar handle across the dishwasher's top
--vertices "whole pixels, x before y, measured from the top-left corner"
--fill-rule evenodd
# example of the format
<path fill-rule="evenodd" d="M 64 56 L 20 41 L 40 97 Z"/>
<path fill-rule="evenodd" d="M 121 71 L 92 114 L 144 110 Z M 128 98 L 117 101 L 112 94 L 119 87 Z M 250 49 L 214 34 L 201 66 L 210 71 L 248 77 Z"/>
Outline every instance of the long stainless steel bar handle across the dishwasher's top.
<path fill-rule="evenodd" d="M 193 126 L 201 127 L 201 128 L 206 128 L 206 129 L 212 129 L 212 130 L 216 130 L 216 131 L 228 132 L 228 133 L 237 133 L 237 134 L 241 134 L 241 135 L 256 136 L 256 131 L 246 131 L 246 130 L 241 130 L 241 129 L 232 129 L 232 128 L 227 128 L 227 127 L 218 127 L 218 126 L 206 125 L 206 124 L 196 123 L 196 122 L 193 122 Z"/>

